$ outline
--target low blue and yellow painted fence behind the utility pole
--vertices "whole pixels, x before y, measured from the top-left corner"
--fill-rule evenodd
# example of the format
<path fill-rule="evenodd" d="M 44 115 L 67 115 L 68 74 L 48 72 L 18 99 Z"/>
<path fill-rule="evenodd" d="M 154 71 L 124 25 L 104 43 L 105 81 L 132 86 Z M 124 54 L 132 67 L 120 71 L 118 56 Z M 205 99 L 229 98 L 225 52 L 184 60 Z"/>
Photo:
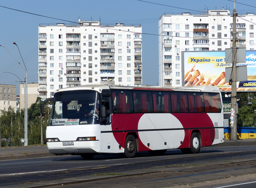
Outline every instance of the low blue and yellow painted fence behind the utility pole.
<path fill-rule="evenodd" d="M 225 139 L 230 139 L 230 127 L 224 127 Z M 256 127 L 238 127 L 237 139 L 256 138 Z"/>

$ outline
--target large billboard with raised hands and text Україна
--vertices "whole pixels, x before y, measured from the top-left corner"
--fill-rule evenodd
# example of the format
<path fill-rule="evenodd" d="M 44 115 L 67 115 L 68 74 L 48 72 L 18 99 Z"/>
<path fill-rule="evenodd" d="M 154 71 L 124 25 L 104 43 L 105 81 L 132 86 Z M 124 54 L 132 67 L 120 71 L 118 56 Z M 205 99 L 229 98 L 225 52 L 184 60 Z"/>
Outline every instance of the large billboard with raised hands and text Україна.
<path fill-rule="evenodd" d="M 232 55 L 230 57 L 232 59 Z M 225 72 L 225 51 L 182 51 L 183 86 L 214 85 L 221 91 L 231 91 L 225 78 L 230 78 Z M 237 66 L 247 65 L 247 81 L 237 81 L 237 91 L 256 91 L 256 51 L 246 51 L 246 62 Z"/>

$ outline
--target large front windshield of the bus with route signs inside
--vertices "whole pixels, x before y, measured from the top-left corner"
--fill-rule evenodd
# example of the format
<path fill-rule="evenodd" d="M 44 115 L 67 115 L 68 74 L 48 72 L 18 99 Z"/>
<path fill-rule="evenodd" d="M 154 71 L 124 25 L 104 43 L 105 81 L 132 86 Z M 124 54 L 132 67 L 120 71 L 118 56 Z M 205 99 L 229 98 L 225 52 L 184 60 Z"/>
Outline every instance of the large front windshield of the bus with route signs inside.
<path fill-rule="evenodd" d="M 96 91 L 57 92 L 49 125 L 99 124 L 99 104 L 100 94 Z"/>

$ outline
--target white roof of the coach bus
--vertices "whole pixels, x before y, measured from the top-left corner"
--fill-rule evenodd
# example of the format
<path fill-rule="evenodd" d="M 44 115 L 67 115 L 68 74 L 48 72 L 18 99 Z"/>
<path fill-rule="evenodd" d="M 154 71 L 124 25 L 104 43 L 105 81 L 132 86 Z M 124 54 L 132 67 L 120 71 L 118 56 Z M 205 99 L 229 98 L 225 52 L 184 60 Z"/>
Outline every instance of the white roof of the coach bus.
<path fill-rule="evenodd" d="M 57 89 L 55 92 L 60 91 L 73 91 L 73 90 L 95 90 L 101 93 L 103 89 L 135 89 L 135 90 L 159 90 L 159 91 L 205 91 L 205 92 L 220 92 L 217 86 L 182 86 L 182 87 L 162 87 L 162 86 L 149 86 L 149 87 L 136 87 L 136 86 L 119 86 L 111 84 L 88 84 L 81 86 L 74 86 L 68 88 Z"/>

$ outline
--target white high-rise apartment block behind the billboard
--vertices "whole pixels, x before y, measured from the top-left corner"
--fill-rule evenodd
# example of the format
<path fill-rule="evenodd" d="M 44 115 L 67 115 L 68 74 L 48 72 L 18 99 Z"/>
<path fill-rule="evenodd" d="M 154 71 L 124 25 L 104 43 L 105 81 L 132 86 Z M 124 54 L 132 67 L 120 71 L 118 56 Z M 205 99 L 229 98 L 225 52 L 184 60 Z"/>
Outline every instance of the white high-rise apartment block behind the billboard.
<path fill-rule="evenodd" d="M 237 47 L 256 49 L 255 21 L 253 13 L 238 15 Z M 166 13 L 159 18 L 158 26 L 160 86 L 182 86 L 181 51 L 225 50 L 232 47 L 233 17 L 224 7 L 222 10 L 209 10 L 204 15 Z"/>

